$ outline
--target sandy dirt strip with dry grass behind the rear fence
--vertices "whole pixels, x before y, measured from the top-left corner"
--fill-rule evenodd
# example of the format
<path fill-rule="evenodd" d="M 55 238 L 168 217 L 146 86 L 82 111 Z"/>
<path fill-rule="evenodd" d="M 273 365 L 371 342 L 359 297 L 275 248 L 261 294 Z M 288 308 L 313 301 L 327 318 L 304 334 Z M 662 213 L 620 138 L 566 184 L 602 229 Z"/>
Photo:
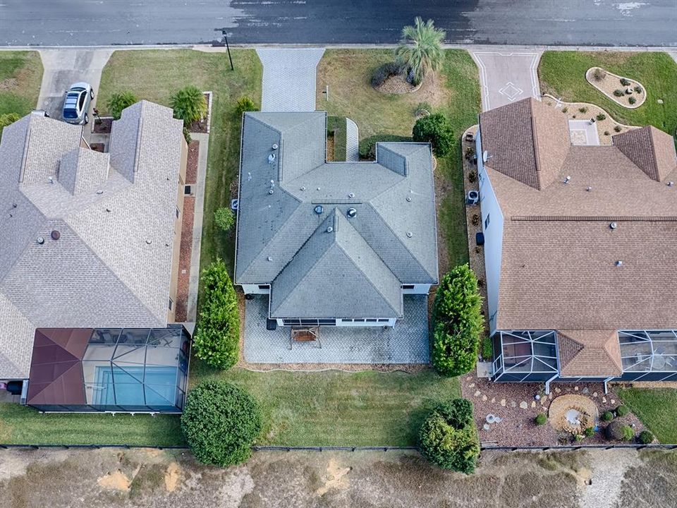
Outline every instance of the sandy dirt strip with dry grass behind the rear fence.
<path fill-rule="evenodd" d="M 473 476 L 415 452 L 257 452 L 227 469 L 150 449 L 0 452 L 0 507 L 677 506 L 677 452 L 484 452 Z"/>

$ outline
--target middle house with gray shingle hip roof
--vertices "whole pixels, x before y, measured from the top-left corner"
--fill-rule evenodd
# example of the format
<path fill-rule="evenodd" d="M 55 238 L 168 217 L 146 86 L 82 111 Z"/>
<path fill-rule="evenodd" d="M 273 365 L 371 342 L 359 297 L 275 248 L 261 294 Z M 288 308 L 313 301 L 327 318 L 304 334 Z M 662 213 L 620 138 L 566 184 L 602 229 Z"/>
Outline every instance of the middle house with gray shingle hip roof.
<path fill-rule="evenodd" d="M 327 162 L 324 111 L 246 113 L 235 282 L 277 325 L 394 326 L 438 282 L 430 145 Z"/>

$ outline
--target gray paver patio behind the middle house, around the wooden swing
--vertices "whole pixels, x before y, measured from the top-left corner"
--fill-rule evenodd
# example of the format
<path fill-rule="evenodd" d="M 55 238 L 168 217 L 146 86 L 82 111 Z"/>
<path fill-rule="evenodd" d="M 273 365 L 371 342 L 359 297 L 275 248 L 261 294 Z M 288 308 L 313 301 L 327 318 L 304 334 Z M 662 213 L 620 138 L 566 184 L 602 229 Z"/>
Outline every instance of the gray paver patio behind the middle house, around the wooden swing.
<path fill-rule="evenodd" d="M 268 296 L 246 301 L 244 356 L 248 363 L 429 363 L 427 296 L 404 297 L 394 328 L 321 327 L 319 343 L 294 342 L 290 327 L 266 329 Z"/>

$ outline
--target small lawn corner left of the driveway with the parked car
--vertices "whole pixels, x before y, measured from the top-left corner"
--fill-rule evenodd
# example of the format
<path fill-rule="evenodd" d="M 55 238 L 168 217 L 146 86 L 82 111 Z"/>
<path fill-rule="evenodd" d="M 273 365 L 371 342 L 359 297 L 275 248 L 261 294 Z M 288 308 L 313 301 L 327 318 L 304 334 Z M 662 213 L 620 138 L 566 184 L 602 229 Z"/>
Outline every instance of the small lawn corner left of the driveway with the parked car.
<path fill-rule="evenodd" d="M 0 52 L 0 115 L 35 109 L 42 83 L 38 52 Z"/>

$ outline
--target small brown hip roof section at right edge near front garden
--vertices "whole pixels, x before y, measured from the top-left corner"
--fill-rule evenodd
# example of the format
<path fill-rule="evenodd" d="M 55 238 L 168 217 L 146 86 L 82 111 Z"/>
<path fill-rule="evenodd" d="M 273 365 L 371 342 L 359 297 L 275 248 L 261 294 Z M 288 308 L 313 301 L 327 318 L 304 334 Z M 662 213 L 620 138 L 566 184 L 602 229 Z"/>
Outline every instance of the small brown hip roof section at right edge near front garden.
<path fill-rule="evenodd" d="M 655 181 L 664 181 L 677 168 L 672 136 L 646 126 L 611 138 L 614 146 Z"/>

